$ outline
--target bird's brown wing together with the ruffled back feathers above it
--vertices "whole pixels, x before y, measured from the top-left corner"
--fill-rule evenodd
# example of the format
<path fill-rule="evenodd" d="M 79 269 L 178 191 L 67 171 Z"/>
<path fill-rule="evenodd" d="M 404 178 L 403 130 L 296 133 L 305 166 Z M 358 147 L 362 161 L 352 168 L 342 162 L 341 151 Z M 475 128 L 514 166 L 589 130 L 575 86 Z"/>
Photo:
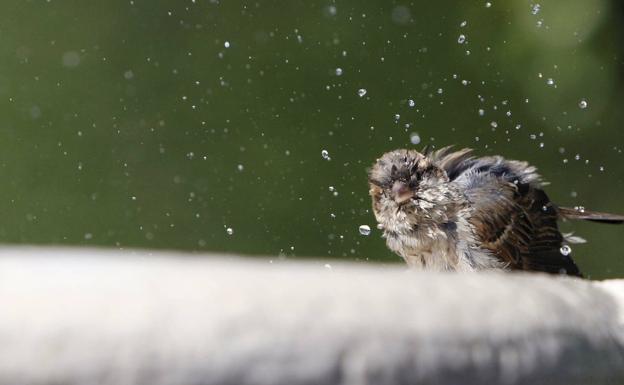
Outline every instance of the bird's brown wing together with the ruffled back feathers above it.
<path fill-rule="evenodd" d="M 535 167 L 500 156 L 474 157 L 470 149 L 427 154 L 470 201 L 469 222 L 482 248 L 513 269 L 581 276 L 570 254 L 561 252 L 559 212 Z"/>

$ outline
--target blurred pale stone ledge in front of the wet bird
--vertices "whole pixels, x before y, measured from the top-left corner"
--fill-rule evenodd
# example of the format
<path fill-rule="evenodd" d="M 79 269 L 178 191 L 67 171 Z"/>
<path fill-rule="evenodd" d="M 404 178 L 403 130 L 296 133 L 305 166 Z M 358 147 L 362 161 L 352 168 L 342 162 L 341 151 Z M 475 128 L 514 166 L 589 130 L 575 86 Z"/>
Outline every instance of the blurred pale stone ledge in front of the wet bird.
<path fill-rule="evenodd" d="M 0 384 L 624 382 L 622 280 L 330 263 L 0 250 Z"/>

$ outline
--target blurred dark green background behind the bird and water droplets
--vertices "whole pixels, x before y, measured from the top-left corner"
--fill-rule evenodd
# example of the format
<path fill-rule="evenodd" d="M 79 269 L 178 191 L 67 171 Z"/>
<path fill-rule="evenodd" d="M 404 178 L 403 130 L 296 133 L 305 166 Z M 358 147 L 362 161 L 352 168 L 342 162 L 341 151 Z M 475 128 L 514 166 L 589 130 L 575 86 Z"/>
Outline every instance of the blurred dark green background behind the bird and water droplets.
<path fill-rule="evenodd" d="M 4 4 L 3 243 L 399 262 L 365 171 L 412 141 L 624 212 L 619 0 Z M 624 276 L 624 226 L 564 228 Z"/>

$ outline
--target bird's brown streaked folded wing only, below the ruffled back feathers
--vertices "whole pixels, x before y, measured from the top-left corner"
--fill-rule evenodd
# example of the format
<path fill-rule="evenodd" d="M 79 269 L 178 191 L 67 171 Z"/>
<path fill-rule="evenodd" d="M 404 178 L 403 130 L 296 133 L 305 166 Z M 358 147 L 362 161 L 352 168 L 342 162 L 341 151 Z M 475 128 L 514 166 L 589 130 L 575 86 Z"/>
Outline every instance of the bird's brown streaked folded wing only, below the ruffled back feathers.
<path fill-rule="evenodd" d="M 473 208 L 469 222 L 479 245 L 512 269 L 581 276 L 569 253 L 561 252 L 557 209 L 537 179 L 512 182 L 509 176 L 486 171 L 465 178 Z"/>

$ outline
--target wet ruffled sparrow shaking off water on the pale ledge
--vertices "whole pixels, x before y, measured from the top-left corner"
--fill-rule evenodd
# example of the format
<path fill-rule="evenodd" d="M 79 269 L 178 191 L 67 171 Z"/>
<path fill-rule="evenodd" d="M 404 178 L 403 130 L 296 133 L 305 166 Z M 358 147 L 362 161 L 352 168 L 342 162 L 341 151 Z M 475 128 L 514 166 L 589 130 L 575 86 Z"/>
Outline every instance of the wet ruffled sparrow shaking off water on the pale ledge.
<path fill-rule="evenodd" d="M 388 247 L 427 270 L 533 270 L 582 276 L 558 219 L 624 216 L 559 207 L 535 167 L 472 150 L 395 150 L 369 170 L 373 212 Z"/>

